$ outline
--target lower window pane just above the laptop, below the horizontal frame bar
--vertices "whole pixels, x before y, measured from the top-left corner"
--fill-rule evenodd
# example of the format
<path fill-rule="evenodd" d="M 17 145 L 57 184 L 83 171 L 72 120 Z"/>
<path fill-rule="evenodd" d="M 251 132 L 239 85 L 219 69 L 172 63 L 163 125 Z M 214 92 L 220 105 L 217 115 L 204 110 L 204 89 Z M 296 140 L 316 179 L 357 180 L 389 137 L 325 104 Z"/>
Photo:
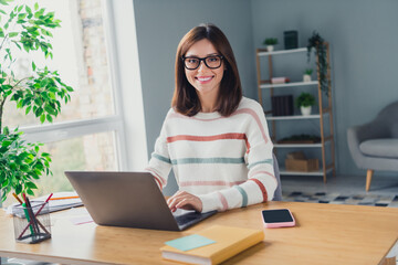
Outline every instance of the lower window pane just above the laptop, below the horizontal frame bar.
<path fill-rule="evenodd" d="M 117 171 L 115 132 L 86 135 L 67 140 L 45 144 L 42 151 L 51 153 L 53 176 L 42 176 L 35 183 L 35 197 L 57 191 L 72 191 L 73 188 L 64 174 L 66 170 L 107 170 Z M 14 203 L 8 195 L 4 205 Z"/>

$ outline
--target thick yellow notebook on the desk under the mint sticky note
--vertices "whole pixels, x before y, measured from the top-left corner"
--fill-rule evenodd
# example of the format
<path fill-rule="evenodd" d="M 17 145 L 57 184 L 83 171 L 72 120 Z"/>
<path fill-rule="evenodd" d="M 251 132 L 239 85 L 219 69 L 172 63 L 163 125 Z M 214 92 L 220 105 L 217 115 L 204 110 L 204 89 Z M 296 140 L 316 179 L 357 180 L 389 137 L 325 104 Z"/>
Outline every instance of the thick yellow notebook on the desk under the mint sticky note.
<path fill-rule="evenodd" d="M 224 225 L 214 225 L 196 234 L 216 243 L 186 252 L 165 245 L 160 248 L 163 257 L 190 264 L 219 264 L 264 240 L 262 230 Z"/>

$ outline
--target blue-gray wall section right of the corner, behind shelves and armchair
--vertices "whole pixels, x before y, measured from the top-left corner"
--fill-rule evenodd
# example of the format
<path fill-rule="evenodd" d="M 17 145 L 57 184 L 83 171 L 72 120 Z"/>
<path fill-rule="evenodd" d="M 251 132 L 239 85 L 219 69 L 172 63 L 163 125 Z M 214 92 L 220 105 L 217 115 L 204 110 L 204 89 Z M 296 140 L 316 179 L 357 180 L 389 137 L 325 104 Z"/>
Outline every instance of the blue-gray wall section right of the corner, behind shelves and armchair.
<path fill-rule="evenodd" d="M 316 30 L 331 43 L 338 174 L 364 174 L 349 155 L 346 131 L 398 99 L 398 1 L 252 0 L 254 46 L 297 30 L 306 46 Z M 379 174 L 380 172 L 376 172 Z M 394 173 L 381 173 L 394 174 Z M 396 176 L 396 173 L 395 173 Z"/>

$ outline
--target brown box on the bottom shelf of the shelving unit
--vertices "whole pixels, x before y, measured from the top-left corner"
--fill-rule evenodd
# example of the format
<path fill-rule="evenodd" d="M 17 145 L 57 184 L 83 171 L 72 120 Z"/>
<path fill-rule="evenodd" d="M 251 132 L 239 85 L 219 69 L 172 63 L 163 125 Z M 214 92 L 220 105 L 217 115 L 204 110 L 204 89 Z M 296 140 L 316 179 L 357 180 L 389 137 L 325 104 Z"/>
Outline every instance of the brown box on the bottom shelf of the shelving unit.
<path fill-rule="evenodd" d="M 307 159 L 301 151 L 287 153 L 285 159 L 287 171 L 311 172 L 320 170 L 318 159 Z"/>

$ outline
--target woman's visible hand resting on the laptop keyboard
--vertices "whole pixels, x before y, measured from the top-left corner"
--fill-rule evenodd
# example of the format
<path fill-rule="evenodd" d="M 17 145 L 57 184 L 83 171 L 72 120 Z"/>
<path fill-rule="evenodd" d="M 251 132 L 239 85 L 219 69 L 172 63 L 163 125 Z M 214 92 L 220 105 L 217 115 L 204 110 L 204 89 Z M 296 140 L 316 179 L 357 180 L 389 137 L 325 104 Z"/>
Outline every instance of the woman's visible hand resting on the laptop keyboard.
<path fill-rule="evenodd" d="M 176 194 L 167 200 L 167 204 L 171 212 L 175 212 L 177 209 L 196 210 L 197 212 L 202 210 L 201 200 L 186 191 L 177 191 Z"/>

